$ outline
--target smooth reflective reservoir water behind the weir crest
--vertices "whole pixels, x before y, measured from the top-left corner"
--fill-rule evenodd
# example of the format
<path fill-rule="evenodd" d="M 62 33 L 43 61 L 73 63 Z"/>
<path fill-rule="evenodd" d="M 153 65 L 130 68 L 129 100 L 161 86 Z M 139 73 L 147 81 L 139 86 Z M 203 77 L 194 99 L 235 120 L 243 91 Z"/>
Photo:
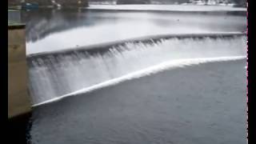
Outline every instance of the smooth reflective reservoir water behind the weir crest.
<path fill-rule="evenodd" d="M 31 10 L 22 21 L 28 55 L 148 35 L 246 31 L 246 11 Z"/>

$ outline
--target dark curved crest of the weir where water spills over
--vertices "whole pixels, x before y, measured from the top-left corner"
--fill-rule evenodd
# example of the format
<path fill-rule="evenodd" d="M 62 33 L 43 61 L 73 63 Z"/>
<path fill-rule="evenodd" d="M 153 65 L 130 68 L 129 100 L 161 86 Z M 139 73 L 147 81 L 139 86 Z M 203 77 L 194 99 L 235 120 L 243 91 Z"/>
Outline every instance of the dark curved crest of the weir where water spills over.
<path fill-rule="evenodd" d="M 147 43 L 147 44 L 154 44 L 157 42 L 161 42 L 162 40 L 167 40 L 171 38 L 178 38 L 178 39 L 185 39 L 185 38 L 196 38 L 196 39 L 203 39 L 203 38 L 234 38 L 239 36 L 245 36 L 245 33 L 218 33 L 218 34 L 158 34 L 158 35 L 151 35 L 146 37 L 140 37 L 140 38 L 130 38 L 126 40 L 121 41 L 115 41 L 115 42 L 105 42 L 97 45 L 90 45 L 90 46 L 77 46 L 75 48 L 65 49 L 65 50 L 51 50 L 46 52 L 39 52 L 35 54 L 28 54 L 28 58 L 30 57 L 43 57 L 47 54 L 68 54 L 73 53 L 76 51 L 77 53 L 79 51 L 84 51 L 94 54 L 94 53 L 106 53 L 109 51 L 111 47 L 115 46 L 125 46 L 126 43 L 132 42 L 134 44 L 136 43 Z"/>

